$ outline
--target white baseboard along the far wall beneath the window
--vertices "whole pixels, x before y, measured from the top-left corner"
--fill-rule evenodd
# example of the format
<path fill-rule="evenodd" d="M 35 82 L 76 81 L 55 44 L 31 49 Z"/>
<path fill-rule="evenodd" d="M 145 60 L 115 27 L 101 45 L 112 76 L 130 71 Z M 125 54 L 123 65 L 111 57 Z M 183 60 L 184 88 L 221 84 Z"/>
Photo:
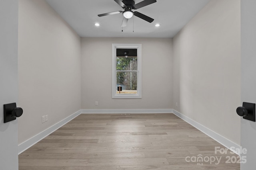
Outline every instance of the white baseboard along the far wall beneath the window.
<path fill-rule="evenodd" d="M 173 109 L 82 109 L 81 113 L 172 113 Z"/>

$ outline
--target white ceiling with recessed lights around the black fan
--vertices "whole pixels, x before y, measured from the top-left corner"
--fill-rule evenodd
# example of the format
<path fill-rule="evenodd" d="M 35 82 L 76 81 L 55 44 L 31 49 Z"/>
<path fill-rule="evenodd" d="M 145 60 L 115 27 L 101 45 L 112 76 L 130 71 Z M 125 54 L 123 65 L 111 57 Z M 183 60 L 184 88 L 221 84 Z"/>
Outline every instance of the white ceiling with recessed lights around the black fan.
<path fill-rule="evenodd" d="M 152 23 L 136 16 L 123 27 L 123 11 L 114 0 L 46 0 L 81 37 L 174 37 L 210 0 L 156 0 L 138 11 L 154 19 Z M 135 4 L 142 0 L 135 0 Z M 100 23 L 96 27 L 94 23 Z M 134 24 L 133 24 L 134 22 Z M 160 27 L 155 27 L 156 23 Z M 134 27 L 134 32 L 133 32 Z"/>

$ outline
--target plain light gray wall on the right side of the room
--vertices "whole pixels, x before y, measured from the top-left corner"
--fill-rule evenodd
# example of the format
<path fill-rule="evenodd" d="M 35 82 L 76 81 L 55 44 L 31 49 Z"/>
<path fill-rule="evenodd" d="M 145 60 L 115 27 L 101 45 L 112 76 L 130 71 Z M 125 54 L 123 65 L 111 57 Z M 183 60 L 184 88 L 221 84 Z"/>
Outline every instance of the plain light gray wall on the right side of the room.
<path fill-rule="evenodd" d="M 173 108 L 240 145 L 240 0 L 210 1 L 173 43 Z"/>

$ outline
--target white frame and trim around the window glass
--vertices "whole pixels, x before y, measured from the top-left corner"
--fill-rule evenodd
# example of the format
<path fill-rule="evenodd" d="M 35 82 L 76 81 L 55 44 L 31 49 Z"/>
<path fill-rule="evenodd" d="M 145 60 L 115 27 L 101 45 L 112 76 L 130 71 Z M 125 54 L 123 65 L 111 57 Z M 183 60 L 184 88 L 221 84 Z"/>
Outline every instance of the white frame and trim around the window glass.
<path fill-rule="evenodd" d="M 141 44 L 112 44 L 112 98 L 142 98 L 142 45 Z M 137 94 L 116 94 L 116 49 L 137 49 Z"/>

